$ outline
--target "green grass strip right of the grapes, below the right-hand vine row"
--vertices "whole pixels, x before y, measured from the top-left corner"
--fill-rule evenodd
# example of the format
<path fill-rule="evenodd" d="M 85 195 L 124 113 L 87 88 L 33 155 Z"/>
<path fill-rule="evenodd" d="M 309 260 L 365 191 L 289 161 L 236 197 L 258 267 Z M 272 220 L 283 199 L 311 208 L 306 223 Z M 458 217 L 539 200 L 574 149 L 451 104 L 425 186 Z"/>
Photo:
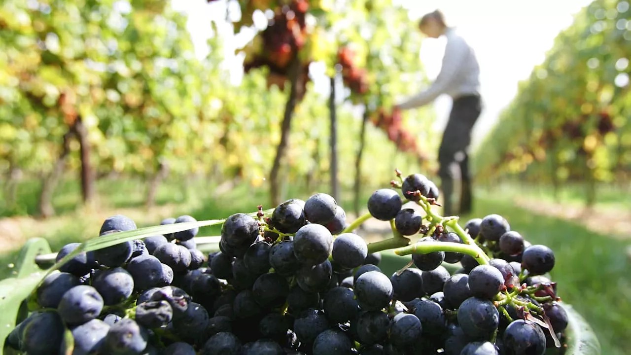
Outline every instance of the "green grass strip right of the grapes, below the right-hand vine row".
<path fill-rule="evenodd" d="M 506 200 L 481 196 L 471 216 L 503 215 L 511 229 L 533 244 L 552 248 L 551 272 L 558 294 L 594 328 L 602 354 L 628 354 L 631 347 L 631 274 L 625 248 L 629 241 L 607 238 L 557 218 L 534 215 Z M 463 216 L 464 220 L 471 216 Z"/>

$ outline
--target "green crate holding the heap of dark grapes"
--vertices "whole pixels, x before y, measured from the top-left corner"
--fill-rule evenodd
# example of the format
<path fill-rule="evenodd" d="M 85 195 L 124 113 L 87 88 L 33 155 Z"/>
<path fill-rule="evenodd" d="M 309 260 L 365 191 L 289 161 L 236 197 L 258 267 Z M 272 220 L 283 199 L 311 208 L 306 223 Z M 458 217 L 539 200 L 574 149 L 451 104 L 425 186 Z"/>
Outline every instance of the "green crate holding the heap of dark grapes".
<path fill-rule="evenodd" d="M 216 248 L 216 243 L 206 243 L 205 250 Z M 6 339 L 16 323 L 27 316 L 27 304 L 25 299 L 38 282 L 45 275 L 46 260 L 37 256 L 51 253 L 46 239 L 32 238 L 27 241 L 20 251 L 18 261 L 15 263 L 13 277 L 0 281 L 0 339 Z M 410 260 L 409 256 L 398 256 L 392 252 L 382 252 L 382 260 L 379 267 L 386 275 L 392 275 Z M 42 265 L 42 267 L 40 267 Z M 454 272 L 459 265 L 445 264 L 445 267 Z M 589 324 L 570 306 L 562 303 L 569 316 L 569 326 L 566 330 L 567 347 L 565 352 L 559 349 L 550 349 L 546 354 L 565 355 L 599 355 L 600 344 Z M 19 352 L 6 346 L 0 348 L 0 355 L 16 355 Z"/>

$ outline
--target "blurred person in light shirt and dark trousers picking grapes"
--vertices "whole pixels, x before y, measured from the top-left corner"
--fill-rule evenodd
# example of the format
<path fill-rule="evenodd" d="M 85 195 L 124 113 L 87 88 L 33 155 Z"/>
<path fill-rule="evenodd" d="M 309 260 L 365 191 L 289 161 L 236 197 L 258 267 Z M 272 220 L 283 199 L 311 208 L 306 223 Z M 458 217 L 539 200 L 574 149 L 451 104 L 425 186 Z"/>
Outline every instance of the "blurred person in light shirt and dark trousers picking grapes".
<path fill-rule="evenodd" d="M 471 172 L 468 149 L 471 131 L 481 112 L 480 67 L 473 49 L 456 29 L 447 26 L 439 10 L 424 15 L 419 22 L 420 31 L 433 39 L 447 37 L 445 54 L 440 73 L 426 90 L 394 105 L 395 110 L 408 110 L 427 105 L 440 94 L 452 97 L 453 104 L 439 148 L 440 188 L 443 193 L 444 215 L 454 215 L 454 169 L 457 165 L 461 176 L 459 214 L 471 212 Z"/>

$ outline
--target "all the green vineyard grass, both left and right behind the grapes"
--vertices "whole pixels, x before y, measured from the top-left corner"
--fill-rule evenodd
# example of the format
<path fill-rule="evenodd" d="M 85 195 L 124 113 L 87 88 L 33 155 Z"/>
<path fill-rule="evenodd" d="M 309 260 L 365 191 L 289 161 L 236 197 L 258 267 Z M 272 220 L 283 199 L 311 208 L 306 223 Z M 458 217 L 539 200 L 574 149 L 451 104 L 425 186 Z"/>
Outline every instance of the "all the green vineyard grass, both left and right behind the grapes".
<path fill-rule="evenodd" d="M 64 183 L 57 192 L 54 203 L 60 211 L 71 214 L 79 201 L 78 185 Z M 139 207 L 143 203 L 144 185 L 138 181 L 100 181 L 99 193 L 102 202 L 115 208 Z M 252 188 L 239 184 L 220 196 L 212 197 L 214 186 L 208 183 L 196 183 L 189 189 L 181 188 L 181 183 L 167 182 L 158 191 L 158 203 L 175 203 L 177 214 L 191 214 L 196 219 L 221 219 L 235 212 L 254 212 L 257 205 L 269 208 L 266 186 Z M 568 189 L 569 191 L 572 191 Z M 28 191 L 27 188 L 23 191 Z M 33 188 L 31 191 L 37 191 Z M 323 186 L 319 191 L 328 191 Z M 370 188 L 365 188 L 362 205 L 370 195 Z M 519 193 L 511 190 L 510 193 Z M 529 191 L 529 190 L 526 190 Z M 314 191 L 305 191 L 300 184 L 289 184 L 287 196 L 306 199 Z M 528 192 L 531 193 L 531 192 Z M 545 193 L 543 193 L 545 195 Z M 483 217 L 491 213 L 504 215 L 512 229 L 521 232 L 531 243 L 550 246 L 557 256 L 557 265 L 551 275 L 558 282 L 558 290 L 563 301 L 572 304 L 592 325 L 603 347 L 603 354 L 627 354 L 631 347 L 631 275 L 628 274 L 629 262 L 625 256 L 628 242 L 607 238 L 591 232 L 573 222 L 534 215 L 512 205 L 507 195 L 500 193 L 495 198 L 488 193 L 478 193 L 475 211 L 463 216 L 463 222 L 469 217 Z M 496 195 L 497 196 L 497 195 Z M 512 196 L 512 195 L 511 195 Z M 571 194 L 570 194 L 571 196 Z M 618 200 L 614 199 L 617 196 Z M 611 195 L 610 203 L 627 203 L 620 193 Z M 37 201 L 28 198 L 23 201 Z M 341 205 L 346 211 L 351 209 L 352 193 L 343 188 Z M 25 204 L 28 207 L 28 204 Z M 35 205 L 36 206 L 36 205 Z M 32 207 L 30 207 L 32 208 Z M 627 208 L 628 209 L 628 208 Z M 148 224 L 157 224 L 160 218 L 147 216 Z M 64 226 L 60 232 L 45 233 L 53 250 L 71 241 L 88 238 L 98 231 L 93 226 L 77 218 Z M 199 235 L 217 235 L 220 227 L 206 227 Z M 10 271 L 6 265 L 13 262 L 16 252 L 0 255 L 0 276 L 5 277 Z"/>

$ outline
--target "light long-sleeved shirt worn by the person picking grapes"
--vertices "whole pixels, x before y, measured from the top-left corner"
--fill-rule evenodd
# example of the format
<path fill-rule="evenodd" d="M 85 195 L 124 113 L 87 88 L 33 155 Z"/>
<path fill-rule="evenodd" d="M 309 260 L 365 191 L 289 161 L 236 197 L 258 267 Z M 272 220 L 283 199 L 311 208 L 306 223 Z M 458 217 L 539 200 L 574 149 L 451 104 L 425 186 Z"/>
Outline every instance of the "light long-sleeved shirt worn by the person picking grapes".
<path fill-rule="evenodd" d="M 436 80 L 427 90 L 399 104 L 400 109 L 413 109 L 429 104 L 442 93 L 447 93 L 453 99 L 463 95 L 479 95 L 480 66 L 475 52 L 454 28 L 447 28 L 445 37 L 445 54 Z"/>

